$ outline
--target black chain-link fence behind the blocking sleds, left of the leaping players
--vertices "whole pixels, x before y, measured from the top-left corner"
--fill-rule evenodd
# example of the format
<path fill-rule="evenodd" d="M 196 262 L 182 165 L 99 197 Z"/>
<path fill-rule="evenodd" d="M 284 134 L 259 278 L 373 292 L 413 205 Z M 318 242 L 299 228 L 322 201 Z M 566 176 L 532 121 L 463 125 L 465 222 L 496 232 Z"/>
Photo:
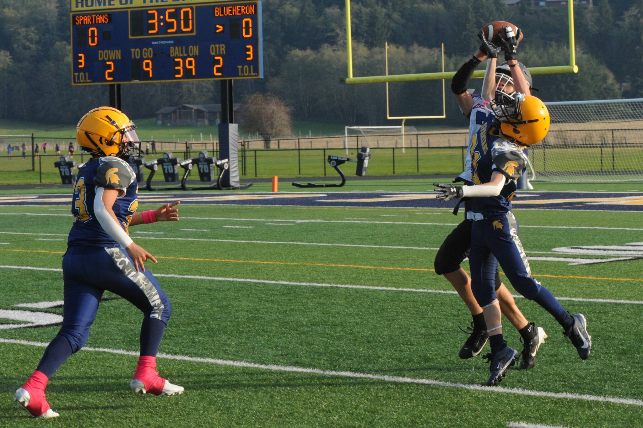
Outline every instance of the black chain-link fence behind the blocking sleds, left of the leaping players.
<path fill-rule="evenodd" d="M 326 162 L 327 156 L 355 158 L 361 146 L 370 146 L 373 157 L 368 165 L 369 176 L 392 175 L 458 175 L 464 169 L 467 132 L 417 133 L 402 135 L 354 135 L 349 137 L 308 137 L 272 140 L 244 140 L 239 142 L 239 173 L 242 179 L 323 177 L 334 176 L 335 171 Z M 46 153 L 42 142 L 46 141 Z M 26 148 L 24 157 L 22 144 Z M 5 155 L 7 145 L 14 150 Z M 73 151 L 69 150 L 71 147 Z M 386 145 L 385 145 L 386 144 Z M 39 150 L 36 151 L 36 147 Z M 55 150 L 58 146 L 59 151 Z M 271 148 L 267 149 L 266 146 Z M 0 137 L 0 184 L 60 184 L 60 175 L 54 162 L 62 155 L 69 155 L 78 165 L 89 160 L 89 155 L 78 150 L 76 141 L 64 138 L 21 135 Z M 143 141 L 141 150 L 145 160 L 163 157 L 169 151 L 174 157 L 185 160 L 198 157 L 200 151 L 219 157 L 219 143 Z M 3 156 L 5 155 L 5 156 Z M 344 166 L 350 176 L 352 166 Z M 149 171 L 145 170 L 145 176 Z M 179 176 L 183 175 L 181 170 Z M 196 180 L 197 176 L 190 175 Z M 162 182 L 163 175 L 154 176 Z"/>

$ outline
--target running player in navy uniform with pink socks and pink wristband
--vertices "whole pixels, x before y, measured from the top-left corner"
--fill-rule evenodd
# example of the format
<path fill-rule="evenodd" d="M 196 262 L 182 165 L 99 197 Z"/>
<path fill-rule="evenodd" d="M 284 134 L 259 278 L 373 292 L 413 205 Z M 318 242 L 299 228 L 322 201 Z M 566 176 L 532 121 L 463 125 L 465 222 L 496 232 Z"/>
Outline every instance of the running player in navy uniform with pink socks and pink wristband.
<path fill-rule="evenodd" d="M 92 158 L 78 170 L 71 201 L 75 221 L 62 258 L 64 314 L 62 327 L 42 355 L 35 372 L 15 391 L 15 401 L 39 418 L 55 418 L 45 389 L 51 375 L 89 338 L 98 302 L 105 292 L 122 296 L 143 312 L 140 357 L 130 382 L 135 393 L 175 395 L 183 387 L 156 372 L 156 354 L 170 319 L 170 301 L 144 262 L 154 257 L 129 237 L 129 227 L 179 219 L 179 202 L 136 212 L 138 184 L 127 163 L 140 146 L 136 126 L 111 107 L 91 110 L 80 119 L 76 138 Z"/>

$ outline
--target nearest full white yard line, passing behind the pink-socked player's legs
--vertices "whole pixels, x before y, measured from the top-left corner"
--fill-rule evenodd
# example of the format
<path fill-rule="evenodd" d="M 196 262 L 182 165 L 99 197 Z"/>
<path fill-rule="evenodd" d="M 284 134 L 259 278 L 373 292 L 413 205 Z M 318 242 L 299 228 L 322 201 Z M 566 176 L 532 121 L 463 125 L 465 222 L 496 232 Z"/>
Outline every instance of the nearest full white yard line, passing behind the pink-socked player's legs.
<path fill-rule="evenodd" d="M 10 343 L 13 345 L 28 345 L 32 347 L 41 347 L 41 348 L 45 348 L 49 345 L 49 343 L 44 343 L 44 342 L 33 342 L 33 341 L 17 340 L 17 339 L 0 339 L 0 343 Z M 134 351 L 126 351 L 122 349 L 111 349 L 111 348 L 86 347 L 86 348 L 82 348 L 82 350 L 94 351 L 94 352 L 109 352 L 110 354 L 132 355 L 136 357 L 138 357 L 138 354 L 139 354 L 138 351 L 134 352 Z M 565 398 L 565 399 L 572 399 L 572 400 L 598 401 L 598 402 L 609 402 L 609 403 L 615 403 L 615 404 L 629 404 L 631 406 L 643 406 L 643 400 L 636 400 L 635 398 L 601 397 L 599 395 L 589 395 L 589 394 L 532 391 L 530 389 L 503 388 L 502 386 L 482 386 L 482 385 L 476 385 L 476 384 L 463 384 L 460 382 L 433 381 L 431 379 L 419 379 L 419 378 L 413 378 L 413 377 L 373 375 L 369 373 L 356 373 L 356 372 L 346 372 L 346 371 L 336 371 L 336 370 L 320 370 L 318 368 L 278 366 L 276 364 L 257 364 L 257 363 L 247 363 L 246 361 L 231 361 L 231 360 L 216 359 L 216 358 L 189 357 L 187 355 L 158 354 L 157 358 L 174 359 L 179 361 L 190 361 L 192 363 L 210 363 L 210 364 L 217 364 L 221 366 L 260 368 L 263 370 L 274 370 L 278 372 L 312 373 L 316 375 L 352 377 L 356 379 L 371 379 L 374 381 L 443 386 L 447 388 L 469 389 L 473 391 L 491 391 L 491 392 L 505 393 L 505 394 L 527 395 L 531 397 Z"/>

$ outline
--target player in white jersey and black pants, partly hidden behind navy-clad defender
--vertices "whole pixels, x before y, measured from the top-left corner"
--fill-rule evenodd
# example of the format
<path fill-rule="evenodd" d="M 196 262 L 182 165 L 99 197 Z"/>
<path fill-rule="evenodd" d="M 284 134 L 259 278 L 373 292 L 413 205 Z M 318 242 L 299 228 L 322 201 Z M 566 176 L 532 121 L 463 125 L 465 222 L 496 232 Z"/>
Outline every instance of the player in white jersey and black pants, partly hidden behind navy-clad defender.
<path fill-rule="evenodd" d="M 502 96 L 511 96 L 512 92 L 514 92 L 511 69 L 506 64 L 496 67 L 496 58 L 502 47 L 495 46 L 489 42 L 482 30 L 478 33 L 478 37 L 482 40 L 482 46 L 480 46 L 480 49 L 469 62 L 460 67 L 451 81 L 451 90 L 455 94 L 462 113 L 469 118 L 469 129 L 473 130 L 469 138 L 469 150 L 467 150 L 467 169 L 455 180 L 455 182 L 464 182 L 467 185 L 473 185 L 473 181 L 471 181 L 473 180 L 471 171 L 471 148 L 473 148 L 473 143 L 476 141 L 475 136 L 478 130 L 482 127 L 481 124 L 476 123 L 477 112 L 484 112 L 487 102 L 493 101 L 494 98 L 501 99 Z M 471 74 L 484 58 L 489 58 L 489 64 L 487 64 L 487 66 L 489 69 L 496 71 L 495 78 L 497 78 L 498 84 L 496 85 L 495 83 L 496 79 L 487 77 L 484 83 L 483 97 L 478 94 L 471 94 L 466 88 Z M 524 73 L 524 78 L 521 78 L 517 84 L 522 90 L 529 90 L 532 85 L 531 75 L 529 71 L 527 71 L 527 68 L 522 65 L 521 70 Z M 490 112 L 490 114 L 493 114 L 493 112 Z M 439 251 L 435 255 L 434 267 L 435 273 L 444 275 L 444 277 L 451 282 L 473 317 L 471 328 L 469 329 L 471 334 L 458 353 L 460 358 L 467 359 L 475 357 L 482 352 L 482 349 L 489 340 L 489 336 L 487 334 L 482 308 L 478 305 L 471 292 L 471 278 L 469 278 L 466 271 L 460 267 L 462 261 L 469 255 L 469 248 L 471 247 L 471 227 L 473 225 L 471 200 L 466 198 L 466 200 L 463 201 L 466 219 L 444 239 Z M 457 210 L 455 212 L 457 213 Z M 494 283 L 502 314 L 516 327 L 524 344 L 521 353 L 520 368 L 529 370 L 536 365 L 536 353 L 540 345 L 545 342 L 547 334 L 545 334 L 545 330 L 543 330 L 542 327 L 536 327 L 534 323 L 530 323 L 520 309 L 518 309 L 511 292 L 500 280 L 500 273 L 498 272 L 497 266 Z"/>

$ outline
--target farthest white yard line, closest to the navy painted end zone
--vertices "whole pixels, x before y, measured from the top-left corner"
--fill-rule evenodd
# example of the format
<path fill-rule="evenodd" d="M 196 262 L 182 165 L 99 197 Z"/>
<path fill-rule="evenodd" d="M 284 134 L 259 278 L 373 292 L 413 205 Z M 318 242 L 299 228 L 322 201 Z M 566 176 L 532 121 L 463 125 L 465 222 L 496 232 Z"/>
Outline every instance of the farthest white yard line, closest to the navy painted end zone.
<path fill-rule="evenodd" d="M 235 205 L 237 206 L 237 205 Z M 254 205 L 253 205 L 254 206 Z M 278 205 L 280 207 L 284 205 Z M 294 205 L 298 206 L 298 205 Z M 353 207 L 354 208 L 354 207 Z M 373 208 L 373 207 L 368 207 Z M 625 212 L 625 211 L 616 211 L 616 212 Z M 633 211 L 640 212 L 640 211 Z M 37 214 L 34 212 L 0 212 L 0 216 L 54 216 L 54 217 L 71 217 L 69 214 Z M 265 219 L 265 218 L 227 218 L 227 217 L 181 217 L 181 219 L 187 220 L 222 220 L 222 221 L 294 221 L 294 223 L 359 223 L 361 225 L 368 224 L 378 224 L 378 225 L 415 225 L 415 226 L 457 226 L 458 223 L 422 223 L 419 221 L 354 221 L 354 220 L 323 220 L 323 219 L 312 219 L 312 220 L 294 220 L 294 219 Z M 599 226 L 529 226 L 529 225 L 520 225 L 520 227 L 527 228 L 543 228 L 543 229 L 593 229 L 593 230 L 633 230 L 641 231 L 643 228 L 635 227 L 599 227 Z"/>

